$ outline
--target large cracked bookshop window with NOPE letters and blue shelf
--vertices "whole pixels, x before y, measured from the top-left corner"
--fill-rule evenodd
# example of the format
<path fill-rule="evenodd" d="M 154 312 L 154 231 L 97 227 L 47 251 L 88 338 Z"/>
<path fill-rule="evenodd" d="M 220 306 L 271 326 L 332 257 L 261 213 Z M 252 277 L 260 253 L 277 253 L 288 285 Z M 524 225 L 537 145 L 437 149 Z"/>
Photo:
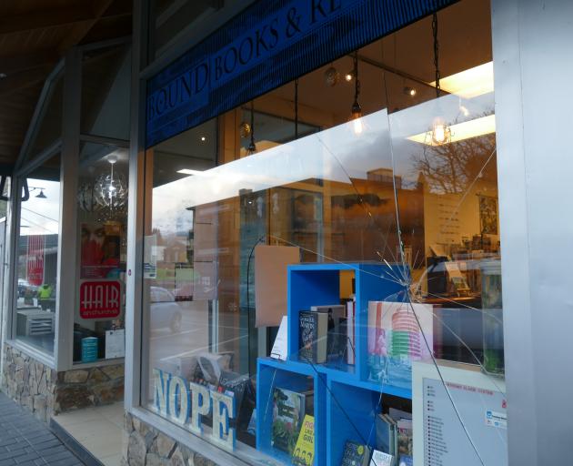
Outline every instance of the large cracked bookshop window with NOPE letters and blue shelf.
<path fill-rule="evenodd" d="M 438 16 L 147 151 L 149 410 L 253 464 L 507 463 L 489 6 Z"/>

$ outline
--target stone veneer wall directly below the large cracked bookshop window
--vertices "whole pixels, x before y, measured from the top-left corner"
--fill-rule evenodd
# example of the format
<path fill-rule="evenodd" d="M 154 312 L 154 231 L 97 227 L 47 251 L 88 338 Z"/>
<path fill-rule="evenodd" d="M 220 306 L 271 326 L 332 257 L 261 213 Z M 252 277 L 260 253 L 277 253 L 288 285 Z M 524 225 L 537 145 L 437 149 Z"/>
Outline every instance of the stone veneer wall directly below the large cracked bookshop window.
<path fill-rule="evenodd" d="M 125 429 L 129 441 L 124 446 L 122 466 L 216 466 L 127 412 Z"/>

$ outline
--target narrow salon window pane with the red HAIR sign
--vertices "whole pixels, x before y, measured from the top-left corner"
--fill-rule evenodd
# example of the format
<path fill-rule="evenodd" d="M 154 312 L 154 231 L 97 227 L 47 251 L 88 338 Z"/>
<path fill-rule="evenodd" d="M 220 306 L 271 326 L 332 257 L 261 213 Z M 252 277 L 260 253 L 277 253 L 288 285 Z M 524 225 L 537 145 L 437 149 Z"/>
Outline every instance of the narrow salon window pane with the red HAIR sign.
<path fill-rule="evenodd" d="M 75 363 L 125 355 L 127 160 L 119 147 L 86 143 L 80 151 Z"/>

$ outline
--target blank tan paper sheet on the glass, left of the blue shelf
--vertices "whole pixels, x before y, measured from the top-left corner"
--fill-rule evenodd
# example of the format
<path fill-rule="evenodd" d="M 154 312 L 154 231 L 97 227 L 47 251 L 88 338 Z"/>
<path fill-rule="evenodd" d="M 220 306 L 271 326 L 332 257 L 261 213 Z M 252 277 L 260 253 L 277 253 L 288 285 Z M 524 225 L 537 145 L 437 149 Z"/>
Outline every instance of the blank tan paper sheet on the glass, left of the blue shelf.
<path fill-rule="evenodd" d="M 286 315 L 286 267 L 299 262 L 299 248 L 255 248 L 256 327 L 276 327 Z"/>

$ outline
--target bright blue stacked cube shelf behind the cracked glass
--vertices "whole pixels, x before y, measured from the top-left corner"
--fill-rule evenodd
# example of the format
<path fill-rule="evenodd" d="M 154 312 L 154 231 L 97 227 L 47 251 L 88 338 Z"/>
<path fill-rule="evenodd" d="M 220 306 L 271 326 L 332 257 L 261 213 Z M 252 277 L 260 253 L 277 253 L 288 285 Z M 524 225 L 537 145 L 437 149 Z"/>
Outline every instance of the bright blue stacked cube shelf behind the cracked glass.
<path fill-rule="evenodd" d="M 298 360 L 298 313 L 340 301 L 340 272 L 353 271 L 356 285 L 356 364 L 311 364 Z M 411 399 L 412 391 L 367 380 L 368 301 L 400 301 L 406 285 L 398 265 L 379 263 L 289 266 L 287 360 L 259 358 L 256 384 L 256 448 L 284 464 L 291 459 L 271 446 L 273 390 L 314 387 L 316 465 L 337 466 L 347 440 L 375 445 L 374 420 L 382 394 Z"/>

